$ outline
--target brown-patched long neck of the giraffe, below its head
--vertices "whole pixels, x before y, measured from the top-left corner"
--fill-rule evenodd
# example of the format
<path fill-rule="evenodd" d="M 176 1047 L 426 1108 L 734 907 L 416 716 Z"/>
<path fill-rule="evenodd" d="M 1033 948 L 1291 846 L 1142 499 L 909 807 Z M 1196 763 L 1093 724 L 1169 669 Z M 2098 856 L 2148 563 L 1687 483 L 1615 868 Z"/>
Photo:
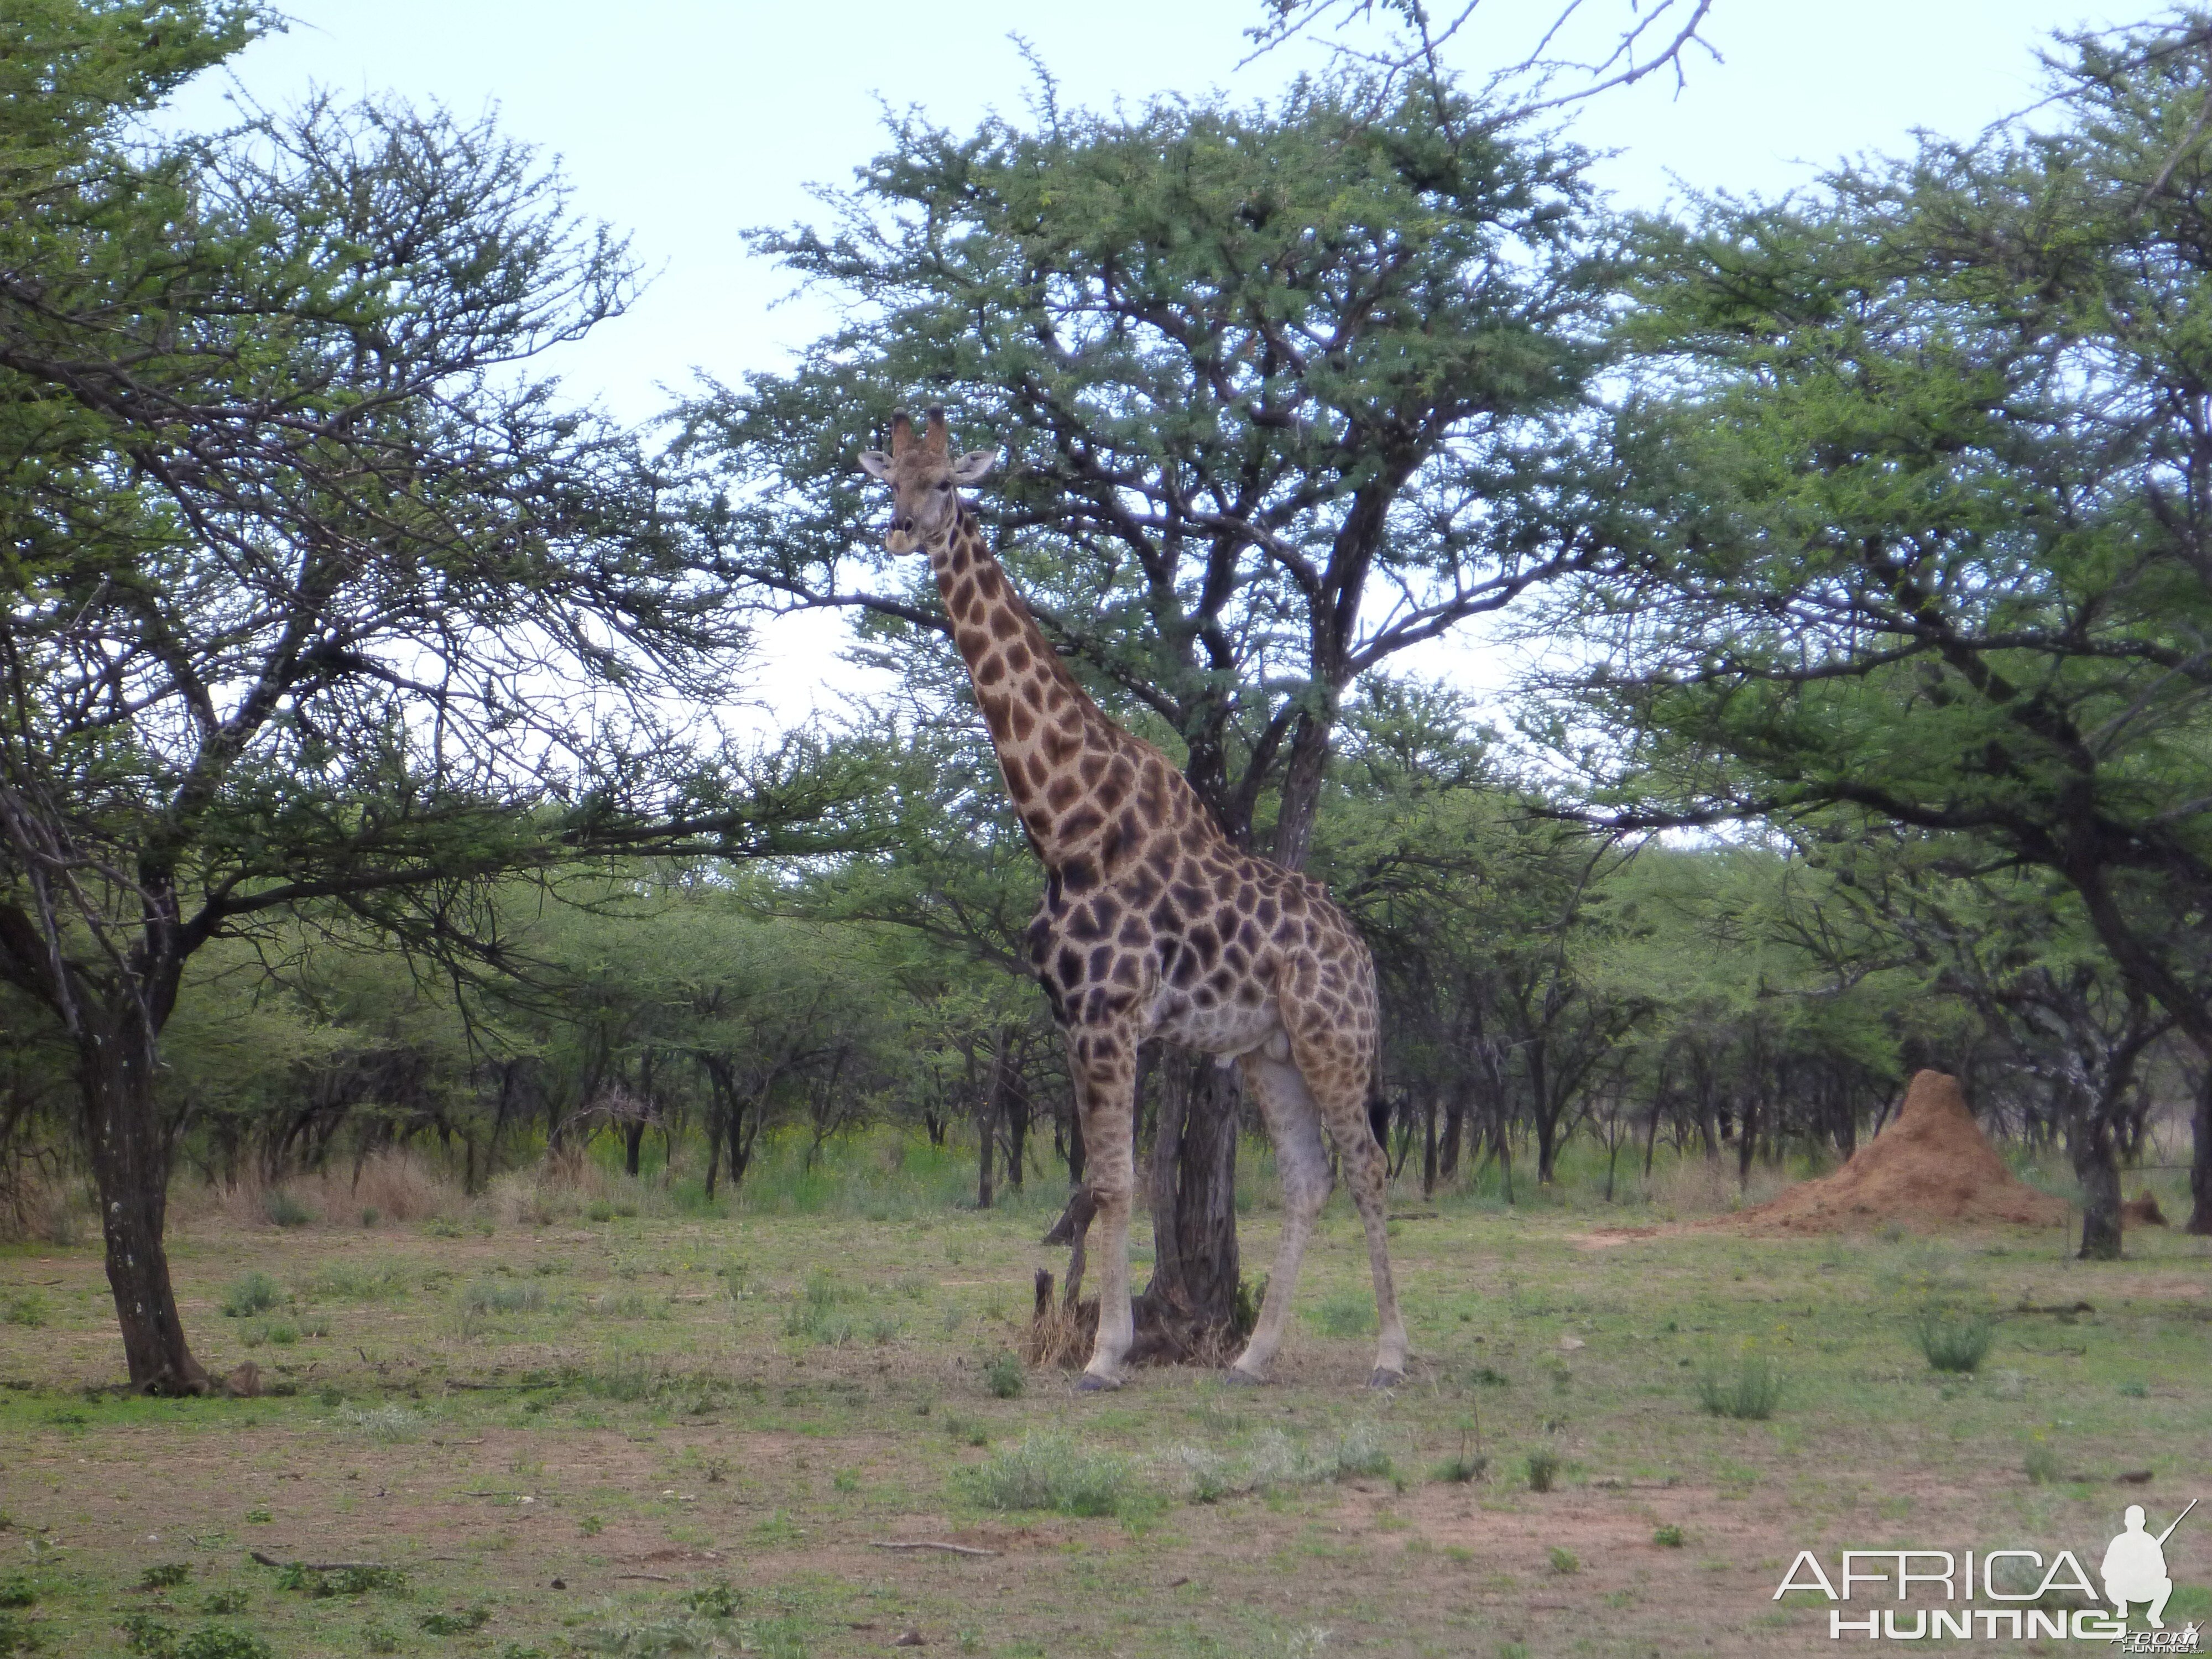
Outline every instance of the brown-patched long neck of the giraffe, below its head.
<path fill-rule="evenodd" d="M 1137 750 L 1150 745 L 1106 719 L 1075 684 L 964 502 L 945 542 L 929 549 L 929 568 L 1031 845 L 1053 872 L 1097 867 L 1102 841 L 1130 838 L 1133 818 L 1119 807 L 1137 794 Z"/>

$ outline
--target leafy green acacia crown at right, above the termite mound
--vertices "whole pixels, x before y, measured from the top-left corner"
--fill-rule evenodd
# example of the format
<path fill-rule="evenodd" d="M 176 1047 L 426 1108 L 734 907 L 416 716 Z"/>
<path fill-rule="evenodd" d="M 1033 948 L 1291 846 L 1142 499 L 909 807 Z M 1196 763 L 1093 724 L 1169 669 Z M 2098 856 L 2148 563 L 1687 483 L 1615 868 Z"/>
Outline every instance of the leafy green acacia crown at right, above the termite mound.
<path fill-rule="evenodd" d="M 2048 869 L 2212 1055 L 2208 46 L 2081 38 L 2046 131 L 1650 226 L 1646 555 L 1584 597 L 1626 821 L 1865 814 Z M 2197 1164 L 2212 1230 L 2212 1124 Z"/>

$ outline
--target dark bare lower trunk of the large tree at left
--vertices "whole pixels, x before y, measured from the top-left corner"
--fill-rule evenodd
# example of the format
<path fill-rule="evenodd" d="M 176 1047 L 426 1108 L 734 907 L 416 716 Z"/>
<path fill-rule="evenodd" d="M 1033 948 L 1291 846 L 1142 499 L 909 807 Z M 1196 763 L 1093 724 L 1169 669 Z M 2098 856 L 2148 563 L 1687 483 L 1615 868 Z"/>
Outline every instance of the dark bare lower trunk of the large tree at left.
<path fill-rule="evenodd" d="M 77 1084 L 131 1385 L 148 1394 L 201 1394 L 208 1374 L 186 1347 L 161 1248 L 170 1146 L 153 1077 L 153 1037 L 137 1011 L 80 1040 Z"/>

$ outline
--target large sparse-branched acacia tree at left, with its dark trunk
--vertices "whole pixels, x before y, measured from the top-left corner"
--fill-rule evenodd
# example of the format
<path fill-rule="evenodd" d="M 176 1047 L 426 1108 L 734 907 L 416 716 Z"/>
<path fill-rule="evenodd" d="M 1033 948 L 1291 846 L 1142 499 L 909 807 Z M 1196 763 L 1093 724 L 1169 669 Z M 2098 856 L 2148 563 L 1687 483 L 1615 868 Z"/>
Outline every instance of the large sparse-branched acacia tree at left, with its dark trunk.
<path fill-rule="evenodd" d="M 719 593 L 524 372 L 622 305 L 619 243 L 442 115 L 128 142 L 257 22 L 0 13 L 0 978 L 73 1055 L 150 1389 L 206 1380 L 155 1091 L 195 951 L 310 902 L 482 945 L 476 878 L 743 852 L 761 807 L 653 710 L 723 684 Z"/>

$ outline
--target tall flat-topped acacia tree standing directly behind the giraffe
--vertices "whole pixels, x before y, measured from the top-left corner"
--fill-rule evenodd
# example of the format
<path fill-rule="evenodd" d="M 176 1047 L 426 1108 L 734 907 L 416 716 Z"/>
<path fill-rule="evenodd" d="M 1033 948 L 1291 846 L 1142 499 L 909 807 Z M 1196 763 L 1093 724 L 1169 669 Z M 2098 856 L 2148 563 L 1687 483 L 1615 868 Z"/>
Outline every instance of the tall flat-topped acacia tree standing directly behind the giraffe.
<path fill-rule="evenodd" d="M 827 230 L 754 237 L 856 321 L 690 407 L 699 529 L 763 604 L 854 608 L 964 701 L 852 471 L 898 403 L 951 405 L 1009 449 L 984 513 L 1046 635 L 1298 867 L 1347 686 L 1595 551 L 1562 465 L 1604 288 L 1579 166 L 1433 80 L 1115 117 L 1046 82 L 1033 128 L 898 122 Z M 1155 1287 L 1223 1325 L 1234 1082 L 1166 1082 Z"/>

